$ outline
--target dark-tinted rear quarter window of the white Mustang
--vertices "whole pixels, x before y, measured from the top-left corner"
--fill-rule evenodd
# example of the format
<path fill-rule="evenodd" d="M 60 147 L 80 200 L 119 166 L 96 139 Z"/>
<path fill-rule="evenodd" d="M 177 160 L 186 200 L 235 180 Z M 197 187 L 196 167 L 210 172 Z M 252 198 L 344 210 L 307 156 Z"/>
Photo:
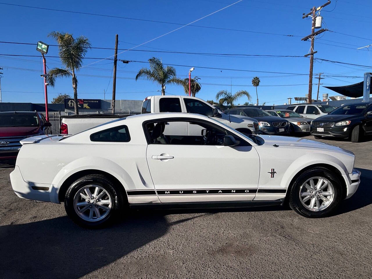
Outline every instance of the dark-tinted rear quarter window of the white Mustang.
<path fill-rule="evenodd" d="M 95 132 L 90 135 L 90 140 L 98 142 L 129 142 L 131 137 L 128 127 L 126 125 L 121 125 Z"/>

